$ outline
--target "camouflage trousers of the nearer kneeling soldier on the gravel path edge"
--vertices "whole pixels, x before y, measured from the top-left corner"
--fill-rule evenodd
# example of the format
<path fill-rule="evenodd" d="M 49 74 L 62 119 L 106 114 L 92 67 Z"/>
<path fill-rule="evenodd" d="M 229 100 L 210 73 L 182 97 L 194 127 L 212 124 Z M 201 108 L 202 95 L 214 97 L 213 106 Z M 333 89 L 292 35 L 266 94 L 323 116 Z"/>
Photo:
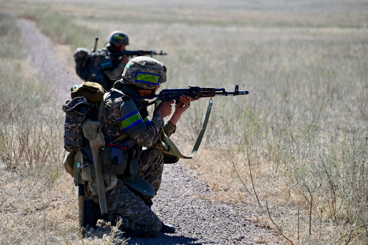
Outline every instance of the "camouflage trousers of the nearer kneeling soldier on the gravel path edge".
<path fill-rule="evenodd" d="M 151 183 L 155 188 L 155 194 L 160 188 L 163 171 L 163 154 L 158 149 L 143 150 L 138 159 L 138 175 Z M 85 185 L 86 196 L 95 203 L 99 203 L 98 195 L 95 195 Z M 143 198 L 143 199 L 142 199 Z M 108 219 L 112 224 L 121 220 L 121 230 L 140 237 L 153 237 L 161 228 L 161 220 L 146 205 L 152 204 L 152 198 L 144 198 L 137 195 L 118 180 L 115 187 L 106 192 Z"/>

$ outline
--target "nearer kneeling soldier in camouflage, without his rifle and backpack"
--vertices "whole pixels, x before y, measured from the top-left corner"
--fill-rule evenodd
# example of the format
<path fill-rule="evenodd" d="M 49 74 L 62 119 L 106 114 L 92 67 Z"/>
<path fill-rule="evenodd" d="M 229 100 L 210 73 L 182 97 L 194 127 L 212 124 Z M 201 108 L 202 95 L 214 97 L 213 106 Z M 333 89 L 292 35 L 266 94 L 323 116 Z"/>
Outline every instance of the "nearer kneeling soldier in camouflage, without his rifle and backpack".
<path fill-rule="evenodd" d="M 113 185 L 106 191 L 107 219 L 112 224 L 121 220 L 122 230 L 141 237 L 153 237 L 159 232 L 175 232 L 174 226 L 164 224 L 151 210 L 152 197 L 159 191 L 164 166 L 160 140 L 162 128 L 167 136 L 173 134 L 177 121 L 188 109 L 192 99 L 190 96 L 181 96 L 173 113 L 171 104 L 174 101 L 162 102 L 151 118 L 146 107 L 138 110 L 144 100 L 131 100 L 132 97 L 154 94 L 163 82 L 166 82 L 164 64 L 151 57 L 132 58 L 125 65 L 122 78 L 110 90 L 103 108 L 105 141 L 112 142 L 121 135 L 127 135 L 107 145 L 106 152 L 111 152 L 111 159 L 116 166 L 126 163 L 126 169 L 137 171 L 134 181 L 130 180 L 132 176 L 126 171 L 124 174 L 110 173 L 110 183 L 113 182 Z M 170 114 L 169 120 L 164 123 L 163 118 Z M 142 147 L 147 149 L 142 150 Z M 93 190 L 92 182 L 85 185 L 88 197 L 85 200 L 85 221 L 89 226 L 95 226 L 101 218 L 99 197 Z M 147 184 L 152 187 L 151 191 L 146 191 Z"/>

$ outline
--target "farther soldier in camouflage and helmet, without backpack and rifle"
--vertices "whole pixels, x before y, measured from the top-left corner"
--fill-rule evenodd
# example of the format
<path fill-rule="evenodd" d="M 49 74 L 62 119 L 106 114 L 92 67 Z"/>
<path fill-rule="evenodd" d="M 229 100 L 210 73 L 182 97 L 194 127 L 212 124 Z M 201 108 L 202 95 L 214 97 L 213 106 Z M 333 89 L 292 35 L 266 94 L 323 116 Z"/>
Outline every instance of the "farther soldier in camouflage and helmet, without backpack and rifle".
<path fill-rule="evenodd" d="M 111 79 L 120 78 L 125 64 L 129 61 L 128 56 L 114 59 L 110 53 L 124 52 L 127 45 L 129 45 L 128 35 L 122 31 L 113 31 L 105 47 L 91 54 L 91 68 L 87 81 L 98 82 L 106 91 L 109 91 L 114 85 Z"/>

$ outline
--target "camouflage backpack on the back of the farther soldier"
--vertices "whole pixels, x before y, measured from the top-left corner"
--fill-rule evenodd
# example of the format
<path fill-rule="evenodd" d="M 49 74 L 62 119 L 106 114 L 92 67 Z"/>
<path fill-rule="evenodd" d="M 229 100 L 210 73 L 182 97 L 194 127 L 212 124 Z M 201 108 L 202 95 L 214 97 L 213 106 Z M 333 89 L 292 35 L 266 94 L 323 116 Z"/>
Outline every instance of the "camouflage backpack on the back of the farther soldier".
<path fill-rule="evenodd" d="M 87 81 L 91 74 L 91 52 L 86 48 L 77 48 L 74 52 L 75 72 Z"/>

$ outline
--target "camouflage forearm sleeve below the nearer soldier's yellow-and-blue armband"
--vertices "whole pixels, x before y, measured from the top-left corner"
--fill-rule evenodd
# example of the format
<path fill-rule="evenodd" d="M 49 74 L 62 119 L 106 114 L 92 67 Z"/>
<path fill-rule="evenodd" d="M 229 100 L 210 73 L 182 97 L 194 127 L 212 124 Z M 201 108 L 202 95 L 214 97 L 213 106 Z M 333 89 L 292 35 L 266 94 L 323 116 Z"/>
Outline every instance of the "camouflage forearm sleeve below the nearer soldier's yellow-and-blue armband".
<path fill-rule="evenodd" d="M 158 141 L 161 134 L 161 128 L 164 127 L 164 121 L 158 114 L 153 115 L 152 120 L 147 125 L 145 131 L 139 135 L 134 136 L 133 139 L 138 145 L 144 147 L 152 147 L 155 142 Z"/>

